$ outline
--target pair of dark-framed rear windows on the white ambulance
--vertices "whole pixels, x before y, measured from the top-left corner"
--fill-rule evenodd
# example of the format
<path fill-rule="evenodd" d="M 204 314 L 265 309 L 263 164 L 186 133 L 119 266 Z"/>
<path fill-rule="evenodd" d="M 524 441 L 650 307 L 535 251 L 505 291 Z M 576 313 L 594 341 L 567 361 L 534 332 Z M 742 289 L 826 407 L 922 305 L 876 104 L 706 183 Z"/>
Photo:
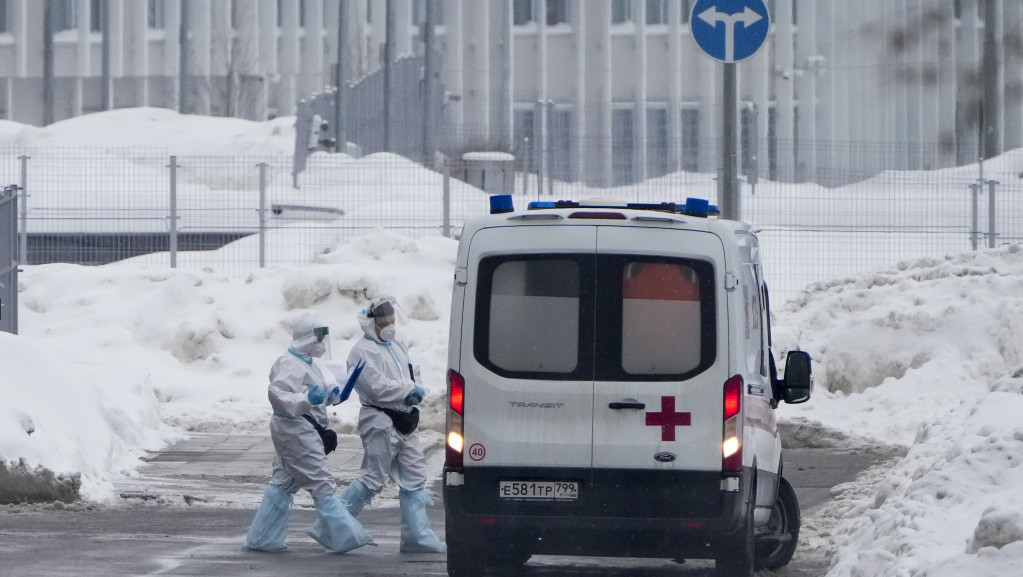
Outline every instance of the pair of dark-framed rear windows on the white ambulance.
<path fill-rule="evenodd" d="M 684 381 L 716 358 L 714 267 L 627 255 L 480 262 L 474 356 L 510 379 Z"/>

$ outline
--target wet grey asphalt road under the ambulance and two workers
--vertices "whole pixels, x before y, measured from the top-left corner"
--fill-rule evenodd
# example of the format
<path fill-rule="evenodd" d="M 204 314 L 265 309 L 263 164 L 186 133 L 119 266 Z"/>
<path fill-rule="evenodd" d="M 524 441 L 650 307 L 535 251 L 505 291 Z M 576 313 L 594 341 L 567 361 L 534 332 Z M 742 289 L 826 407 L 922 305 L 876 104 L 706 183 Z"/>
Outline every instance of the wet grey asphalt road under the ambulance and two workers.
<path fill-rule="evenodd" d="M 361 447 L 343 438 L 331 455 L 335 475 L 354 476 Z M 119 487 L 118 503 L 0 507 L 0 577 L 117 576 L 400 576 L 446 575 L 444 554 L 398 551 L 396 501 L 374 501 L 360 516 L 375 546 L 344 556 L 325 553 L 303 530 L 313 519 L 308 495 L 296 498 L 288 546 L 271 554 L 241 549 L 243 534 L 269 473 L 265 439 L 199 436 L 191 445 L 151 456 L 142 475 Z M 880 457 L 798 449 L 787 453 L 786 477 L 796 487 L 804 517 Z M 435 487 L 439 489 L 439 487 Z M 439 491 L 438 491 L 439 493 Z M 438 495 L 439 497 L 439 495 Z M 443 536 L 443 504 L 429 508 Z M 822 577 L 827 560 L 802 559 L 775 575 Z M 516 575 L 535 577 L 710 576 L 712 564 L 661 560 L 538 557 Z"/>

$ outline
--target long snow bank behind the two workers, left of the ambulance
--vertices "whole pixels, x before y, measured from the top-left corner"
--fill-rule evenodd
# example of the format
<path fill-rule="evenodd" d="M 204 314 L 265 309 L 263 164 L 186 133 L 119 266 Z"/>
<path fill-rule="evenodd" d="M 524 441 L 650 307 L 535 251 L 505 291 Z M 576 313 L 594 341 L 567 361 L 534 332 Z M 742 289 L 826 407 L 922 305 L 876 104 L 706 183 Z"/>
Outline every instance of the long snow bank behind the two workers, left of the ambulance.
<path fill-rule="evenodd" d="M 326 319 L 335 357 L 345 358 L 362 338 L 356 313 L 381 293 L 405 309 L 399 331 L 439 403 L 456 245 L 374 231 L 316 264 L 244 279 L 124 264 L 26 267 L 21 335 L 0 334 L 0 460 L 81 473 L 82 494 L 102 499 L 143 450 L 180 438 L 175 431 L 262 432 L 267 374 L 294 323 Z M 353 432 L 358 404 L 333 410 L 336 427 Z"/>

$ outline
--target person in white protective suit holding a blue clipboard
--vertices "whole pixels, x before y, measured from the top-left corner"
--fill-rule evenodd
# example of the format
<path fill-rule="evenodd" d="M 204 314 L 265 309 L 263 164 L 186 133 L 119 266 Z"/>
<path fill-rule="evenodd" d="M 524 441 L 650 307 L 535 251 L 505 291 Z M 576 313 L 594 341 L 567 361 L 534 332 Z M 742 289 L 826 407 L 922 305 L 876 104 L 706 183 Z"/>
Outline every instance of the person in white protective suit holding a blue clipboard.
<path fill-rule="evenodd" d="M 345 364 L 323 358 L 328 357 L 328 334 L 327 326 L 314 318 L 300 320 L 292 335 L 292 347 L 270 369 L 270 438 L 276 454 L 270 484 L 249 528 L 248 549 L 275 552 L 286 548 L 293 495 L 301 489 L 309 491 L 316 507 L 316 521 L 306 533 L 321 545 L 343 553 L 371 540 L 335 496 L 333 477 L 327 470 L 324 439 L 332 440 L 336 446 L 337 436 L 330 438 L 326 406 L 343 402 L 351 393 L 351 387 L 347 391 L 343 387 L 348 381 Z"/>

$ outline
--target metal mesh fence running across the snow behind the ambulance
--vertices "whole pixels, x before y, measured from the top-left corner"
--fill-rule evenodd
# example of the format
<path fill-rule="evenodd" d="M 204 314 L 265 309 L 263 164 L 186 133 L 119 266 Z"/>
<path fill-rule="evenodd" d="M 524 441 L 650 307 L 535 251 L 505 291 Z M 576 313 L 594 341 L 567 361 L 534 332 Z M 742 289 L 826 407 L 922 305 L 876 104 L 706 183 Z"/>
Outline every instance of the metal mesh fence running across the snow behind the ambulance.
<path fill-rule="evenodd" d="M 897 149 L 857 147 L 875 154 Z M 831 150 L 842 153 L 841 147 Z M 991 214 L 994 246 L 1023 242 L 1021 156 L 985 163 L 985 184 L 975 187 L 976 194 L 971 185 L 981 177 L 977 165 L 884 172 L 835 188 L 761 178 L 742 184 L 743 218 L 760 230 L 768 281 L 775 300 L 784 301 L 811 282 L 970 251 L 974 241 L 986 247 Z M 447 191 L 445 170 L 451 177 Z M 457 235 L 466 219 L 488 211 L 487 192 L 464 182 L 461 161 L 445 169 L 389 153 L 352 159 L 318 152 L 309 159 L 300 187 L 293 186 L 291 172 L 291 157 L 172 161 L 161 149 L 0 145 L 0 179 L 28 191 L 27 264 L 169 266 L 176 240 L 176 266 L 247 275 L 261 265 L 314 262 L 374 229 L 412 238 L 445 230 Z M 519 208 L 552 198 L 717 197 L 715 175 L 694 172 L 612 188 L 540 177 L 516 173 Z M 993 205 L 988 181 L 996 182 Z"/>

